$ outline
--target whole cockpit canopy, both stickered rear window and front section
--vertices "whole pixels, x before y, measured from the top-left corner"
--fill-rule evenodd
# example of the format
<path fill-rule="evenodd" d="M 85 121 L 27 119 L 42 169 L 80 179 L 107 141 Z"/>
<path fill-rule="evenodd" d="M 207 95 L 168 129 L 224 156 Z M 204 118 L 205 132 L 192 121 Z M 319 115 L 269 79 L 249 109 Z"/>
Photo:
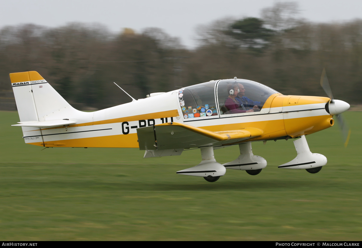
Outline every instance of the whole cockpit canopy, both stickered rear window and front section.
<path fill-rule="evenodd" d="M 228 79 L 182 88 L 178 100 L 184 121 L 190 121 L 258 112 L 275 93 L 278 92 L 254 81 Z"/>

